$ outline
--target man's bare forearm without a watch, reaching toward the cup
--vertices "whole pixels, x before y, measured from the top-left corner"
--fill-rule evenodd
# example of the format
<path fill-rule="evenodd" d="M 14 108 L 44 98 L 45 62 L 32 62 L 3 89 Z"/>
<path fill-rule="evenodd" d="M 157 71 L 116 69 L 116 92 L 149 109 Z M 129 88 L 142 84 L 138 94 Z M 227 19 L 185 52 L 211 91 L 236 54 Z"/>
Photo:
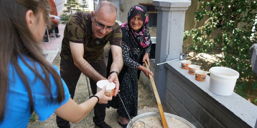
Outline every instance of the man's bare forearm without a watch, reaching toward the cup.
<path fill-rule="evenodd" d="M 95 69 L 83 58 L 83 44 L 70 42 L 70 49 L 74 64 L 79 68 L 79 70 L 83 74 L 85 74 L 88 78 L 93 79 L 96 82 L 100 80 L 106 80 L 105 77 L 103 77 L 101 74 L 95 71 Z"/>

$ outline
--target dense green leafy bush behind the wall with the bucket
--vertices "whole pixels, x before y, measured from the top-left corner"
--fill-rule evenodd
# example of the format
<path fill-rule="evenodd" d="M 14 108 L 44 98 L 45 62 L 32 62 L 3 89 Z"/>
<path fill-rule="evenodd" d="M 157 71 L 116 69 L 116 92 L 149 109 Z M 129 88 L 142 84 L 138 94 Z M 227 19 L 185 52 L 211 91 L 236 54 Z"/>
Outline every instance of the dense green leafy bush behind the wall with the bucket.
<path fill-rule="evenodd" d="M 257 37 L 256 0 L 198 0 L 202 6 L 195 20 L 208 18 L 203 26 L 184 32 L 184 40 L 192 37 L 191 49 L 196 52 L 224 52 L 212 66 L 229 67 L 239 72 L 236 93 L 246 96 L 257 88 L 256 74 L 249 61 L 249 48 Z M 255 29 L 253 29 L 255 26 Z M 253 29 L 253 31 L 252 31 Z"/>

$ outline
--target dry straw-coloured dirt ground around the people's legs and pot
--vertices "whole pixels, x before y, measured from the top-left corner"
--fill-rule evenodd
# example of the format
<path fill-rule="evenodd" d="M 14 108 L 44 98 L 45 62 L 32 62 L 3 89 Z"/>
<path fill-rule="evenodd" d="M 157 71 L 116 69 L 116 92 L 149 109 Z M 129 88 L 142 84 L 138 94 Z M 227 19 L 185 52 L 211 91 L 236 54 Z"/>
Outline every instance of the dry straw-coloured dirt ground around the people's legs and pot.
<path fill-rule="evenodd" d="M 110 49 L 110 45 L 109 43 L 105 46 L 105 62 L 107 63 L 107 59 L 108 59 L 108 51 Z M 53 62 L 54 65 L 56 65 L 58 68 L 59 64 L 60 64 L 60 56 L 58 56 L 56 58 L 56 60 Z M 88 84 L 89 81 L 88 81 Z M 89 92 L 90 95 L 92 95 L 91 93 L 91 88 L 89 85 Z M 77 83 L 77 87 L 76 87 L 76 91 L 75 91 L 75 96 L 74 96 L 74 101 L 77 102 L 78 104 L 81 104 L 82 102 L 85 102 L 86 100 L 88 100 L 89 95 L 88 95 L 88 86 L 87 86 L 87 80 L 86 80 L 86 76 L 84 74 L 81 74 L 79 81 Z M 147 99 L 147 100 L 145 100 Z M 146 113 L 146 112 L 158 112 L 158 108 L 157 108 L 157 103 L 156 100 L 154 98 L 154 94 L 152 92 L 150 92 L 150 89 L 147 88 L 146 86 L 143 86 L 140 81 L 138 84 L 138 115 L 142 114 L 142 113 Z M 163 108 L 164 112 L 167 112 L 166 108 Z M 94 113 L 93 111 L 91 111 L 91 113 L 89 113 L 89 115 L 82 120 L 81 122 L 74 124 L 71 123 L 71 127 L 72 128 L 93 128 L 94 127 L 94 123 L 93 123 L 93 116 Z M 56 115 L 53 114 L 51 115 L 47 120 L 45 120 L 44 122 L 40 122 L 38 120 L 38 117 L 36 116 L 36 120 L 35 121 L 30 121 L 27 128 L 58 128 L 56 125 Z M 111 127 L 113 128 L 121 128 L 121 126 L 118 124 L 118 118 L 119 115 L 116 111 L 116 109 L 113 108 L 106 108 L 106 117 L 105 117 L 105 122 L 107 124 L 109 124 Z"/>

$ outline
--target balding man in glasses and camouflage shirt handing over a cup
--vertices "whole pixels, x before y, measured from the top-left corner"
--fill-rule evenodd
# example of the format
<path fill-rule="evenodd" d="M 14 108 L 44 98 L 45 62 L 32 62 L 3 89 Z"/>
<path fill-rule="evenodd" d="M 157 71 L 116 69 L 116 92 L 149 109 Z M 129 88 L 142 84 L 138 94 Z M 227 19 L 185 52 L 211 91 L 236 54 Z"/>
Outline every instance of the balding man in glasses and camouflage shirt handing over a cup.
<path fill-rule="evenodd" d="M 123 65 L 121 51 L 121 29 L 115 22 L 117 7 L 111 1 L 101 1 L 91 13 L 77 12 L 67 22 L 62 40 L 60 75 L 66 82 L 71 98 L 81 72 L 90 80 L 93 95 L 96 93 L 96 82 L 106 79 L 104 47 L 110 42 L 113 63 L 108 80 L 114 82 L 114 96 L 119 91 L 118 74 Z M 106 104 L 96 104 L 93 122 L 95 127 L 110 128 L 104 122 Z M 56 117 L 58 127 L 70 127 L 70 123 Z"/>

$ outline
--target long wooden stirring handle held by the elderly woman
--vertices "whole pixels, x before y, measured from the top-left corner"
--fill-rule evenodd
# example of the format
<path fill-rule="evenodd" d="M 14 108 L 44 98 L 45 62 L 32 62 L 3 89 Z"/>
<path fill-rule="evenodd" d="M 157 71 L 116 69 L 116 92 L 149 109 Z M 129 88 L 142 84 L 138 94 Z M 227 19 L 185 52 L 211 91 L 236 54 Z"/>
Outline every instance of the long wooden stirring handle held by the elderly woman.
<path fill-rule="evenodd" d="M 147 69 L 150 71 L 146 61 L 145 61 L 145 65 L 146 65 Z M 160 97 L 158 95 L 155 83 L 154 83 L 154 79 L 153 79 L 152 75 L 150 75 L 149 73 L 148 73 L 148 75 L 149 75 L 149 78 L 150 78 L 150 81 L 151 81 L 151 84 L 152 84 L 152 88 L 153 88 L 154 96 L 155 96 L 155 99 L 156 99 L 156 102 L 157 102 L 157 105 L 158 105 L 159 113 L 161 115 L 162 125 L 163 125 L 164 128 L 169 128 L 169 126 L 167 124 L 167 121 L 166 121 L 166 118 L 165 118 L 165 115 L 164 115 L 164 112 L 163 112 L 163 109 L 162 109 L 161 100 L 160 100 Z"/>

